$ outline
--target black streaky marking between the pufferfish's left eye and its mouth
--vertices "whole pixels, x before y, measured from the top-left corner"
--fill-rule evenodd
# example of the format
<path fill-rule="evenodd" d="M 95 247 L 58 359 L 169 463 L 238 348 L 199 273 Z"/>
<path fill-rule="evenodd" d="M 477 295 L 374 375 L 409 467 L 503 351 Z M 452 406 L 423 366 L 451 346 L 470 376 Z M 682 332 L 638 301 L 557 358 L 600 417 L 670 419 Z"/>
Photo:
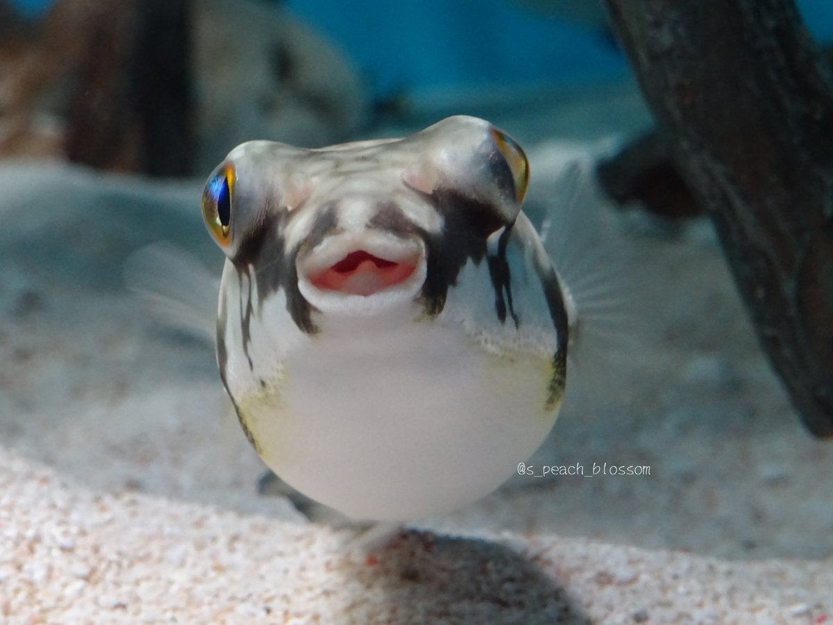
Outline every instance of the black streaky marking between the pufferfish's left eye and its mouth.
<path fill-rule="evenodd" d="M 257 284 L 257 296 L 259 298 L 258 312 L 262 309 L 263 302 L 273 293 L 281 288 L 287 294 L 287 312 L 292 316 L 298 328 L 308 334 L 314 334 L 318 328 L 312 323 L 312 305 L 302 296 L 298 289 L 297 268 L 295 259 L 297 250 L 287 254 L 286 244 L 282 237 L 284 226 L 290 218 L 288 211 L 275 211 L 267 206 L 263 211 L 265 217 L 262 222 L 248 233 L 243 239 L 237 253 L 232 258 L 232 263 L 237 269 L 237 275 L 242 282 L 245 273 L 249 279 L 248 304 L 245 310 L 241 308 L 243 346 L 247 349 L 251 340 L 251 321 L 253 314 L 252 303 L 252 278 Z M 332 220 L 335 218 L 335 211 L 332 215 L 324 213 L 324 225 L 316 228 L 322 232 L 332 228 Z M 254 270 L 254 276 L 250 272 Z M 247 352 L 248 356 L 248 352 Z M 251 365 L 252 360 L 249 359 Z"/>

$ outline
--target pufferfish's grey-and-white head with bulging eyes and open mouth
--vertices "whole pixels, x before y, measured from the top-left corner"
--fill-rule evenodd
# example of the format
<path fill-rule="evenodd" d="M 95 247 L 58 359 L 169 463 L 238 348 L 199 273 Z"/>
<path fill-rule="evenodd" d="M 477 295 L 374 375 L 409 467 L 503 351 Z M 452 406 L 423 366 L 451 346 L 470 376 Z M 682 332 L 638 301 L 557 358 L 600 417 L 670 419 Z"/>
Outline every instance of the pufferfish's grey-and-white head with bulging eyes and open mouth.
<path fill-rule="evenodd" d="M 441 310 L 467 255 L 515 221 L 527 181 L 514 140 L 458 116 L 397 140 L 244 143 L 212 173 L 202 212 L 258 295 L 282 289 L 294 322 L 312 333 L 321 315 Z M 440 258 L 453 248 L 466 253 Z"/>

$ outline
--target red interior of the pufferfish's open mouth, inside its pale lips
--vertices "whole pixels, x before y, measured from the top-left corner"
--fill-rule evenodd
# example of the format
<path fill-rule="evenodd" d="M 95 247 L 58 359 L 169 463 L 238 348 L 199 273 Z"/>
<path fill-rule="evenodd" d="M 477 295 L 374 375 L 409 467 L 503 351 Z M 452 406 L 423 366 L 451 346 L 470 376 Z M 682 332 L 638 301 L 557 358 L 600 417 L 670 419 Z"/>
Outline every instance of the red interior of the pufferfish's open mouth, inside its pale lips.
<path fill-rule="evenodd" d="M 367 297 L 402 284 L 415 271 L 416 263 L 397 263 L 358 250 L 347 254 L 332 267 L 311 276 L 310 282 L 325 291 Z"/>

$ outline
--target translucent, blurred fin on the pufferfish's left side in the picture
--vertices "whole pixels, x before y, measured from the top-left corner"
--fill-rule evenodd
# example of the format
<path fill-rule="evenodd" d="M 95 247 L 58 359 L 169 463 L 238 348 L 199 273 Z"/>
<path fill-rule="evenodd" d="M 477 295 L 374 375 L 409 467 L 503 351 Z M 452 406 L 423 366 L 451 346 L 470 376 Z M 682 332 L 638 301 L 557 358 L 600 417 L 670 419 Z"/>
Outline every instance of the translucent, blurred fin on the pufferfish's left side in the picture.
<path fill-rule="evenodd" d="M 152 243 L 127 258 L 124 281 L 158 323 L 214 343 L 220 281 L 192 254 Z"/>

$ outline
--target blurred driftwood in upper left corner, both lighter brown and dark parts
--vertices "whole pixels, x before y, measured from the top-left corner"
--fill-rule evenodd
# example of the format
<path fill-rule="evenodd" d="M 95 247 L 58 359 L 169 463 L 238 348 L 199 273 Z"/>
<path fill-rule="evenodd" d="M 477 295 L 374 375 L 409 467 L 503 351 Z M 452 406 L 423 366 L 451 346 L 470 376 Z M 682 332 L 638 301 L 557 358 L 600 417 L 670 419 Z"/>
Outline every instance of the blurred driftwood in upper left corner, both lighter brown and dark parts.
<path fill-rule="evenodd" d="M 192 173 L 189 13 L 190 0 L 58 0 L 27 46 L 0 46 L 0 154 Z M 44 113 L 59 133 L 38 127 Z"/>

